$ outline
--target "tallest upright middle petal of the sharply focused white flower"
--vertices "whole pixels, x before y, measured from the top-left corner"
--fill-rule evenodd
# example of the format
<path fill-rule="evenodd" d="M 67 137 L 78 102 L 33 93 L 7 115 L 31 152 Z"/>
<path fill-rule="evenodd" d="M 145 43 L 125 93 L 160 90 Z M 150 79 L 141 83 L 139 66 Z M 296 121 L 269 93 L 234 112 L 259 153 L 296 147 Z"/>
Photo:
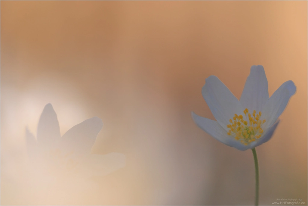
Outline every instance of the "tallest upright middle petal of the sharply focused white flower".
<path fill-rule="evenodd" d="M 269 88 L 263 66 L 252 66 L 240 98 L 241 105 L 249 111 L 255 109 L 260 112 L 269 98 Z"/>

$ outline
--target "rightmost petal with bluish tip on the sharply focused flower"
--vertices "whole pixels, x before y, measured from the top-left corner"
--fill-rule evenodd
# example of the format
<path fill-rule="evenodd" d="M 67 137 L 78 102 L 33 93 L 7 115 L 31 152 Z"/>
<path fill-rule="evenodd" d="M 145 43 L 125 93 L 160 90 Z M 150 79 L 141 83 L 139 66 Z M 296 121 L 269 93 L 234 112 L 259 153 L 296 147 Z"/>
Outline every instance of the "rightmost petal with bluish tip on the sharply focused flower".
<path fill-rule="evenodd" d="M 295 93 L 296 86 L 293 81 L 286 81 L 283 83 L 265 103 L 262 109 L 262 115 L 266 119 L 264 128 L 272 126 L 283 110 L 286 108 L 290 97 Z"/>

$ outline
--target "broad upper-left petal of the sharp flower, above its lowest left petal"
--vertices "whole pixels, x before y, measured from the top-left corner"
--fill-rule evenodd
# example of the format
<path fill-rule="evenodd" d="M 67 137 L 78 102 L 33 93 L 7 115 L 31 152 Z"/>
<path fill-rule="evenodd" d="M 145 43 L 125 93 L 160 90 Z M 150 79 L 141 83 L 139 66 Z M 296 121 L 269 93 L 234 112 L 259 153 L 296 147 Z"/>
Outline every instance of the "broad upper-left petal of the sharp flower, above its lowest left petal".
<path fill-rule="evenodd" d="M 202 96 L 217 122 L 227 130 L 234 114 L 243 114 L 241 103 L 216 76 L 209 76 L 202 87 Z M 243 114 L 244 115 L 244 114 Z"/>

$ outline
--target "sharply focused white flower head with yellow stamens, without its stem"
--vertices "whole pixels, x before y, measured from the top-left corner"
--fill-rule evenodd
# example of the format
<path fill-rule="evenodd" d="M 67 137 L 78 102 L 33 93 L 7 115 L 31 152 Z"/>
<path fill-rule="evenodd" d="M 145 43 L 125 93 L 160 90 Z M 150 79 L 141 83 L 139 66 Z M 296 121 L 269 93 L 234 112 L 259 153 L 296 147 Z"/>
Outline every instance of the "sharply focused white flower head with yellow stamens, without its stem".
<path fill-rule="evenodd" d="M 238 150 L 253 149 L 270 140 L 283 110 L 294 95 L 293 81 L 283 83 L 269 97 L 264 68 L 252 66 L 240 101 L 216 76 L 209 76 L 202 96 L 217 121 L 192 112 L 195 123 L 218 141 Z"/>

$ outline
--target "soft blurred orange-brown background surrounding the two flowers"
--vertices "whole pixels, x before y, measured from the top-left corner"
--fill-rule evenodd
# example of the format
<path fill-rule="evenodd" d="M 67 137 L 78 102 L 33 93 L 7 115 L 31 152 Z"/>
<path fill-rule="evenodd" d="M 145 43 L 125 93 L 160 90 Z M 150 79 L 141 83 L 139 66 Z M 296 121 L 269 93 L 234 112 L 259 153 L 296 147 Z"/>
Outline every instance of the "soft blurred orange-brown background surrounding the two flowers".
<path fill-rule="evenodd" d="M 257 64 L 270 95 L 297 86 L 257 147 L 260 204 L 307 205 L 307 1 L 2 1 L 1 204 L 35 204 L 4 171 L 26 155 L 25 127 L 36 135 L 49 102 L 61 134 L 98 116 L 93 152 L 127 156 L 82 204 L 253 204 L 252 152 L 213 139 L 190 112 L 214 119 L 205 78 L 239 98 Z"/>

